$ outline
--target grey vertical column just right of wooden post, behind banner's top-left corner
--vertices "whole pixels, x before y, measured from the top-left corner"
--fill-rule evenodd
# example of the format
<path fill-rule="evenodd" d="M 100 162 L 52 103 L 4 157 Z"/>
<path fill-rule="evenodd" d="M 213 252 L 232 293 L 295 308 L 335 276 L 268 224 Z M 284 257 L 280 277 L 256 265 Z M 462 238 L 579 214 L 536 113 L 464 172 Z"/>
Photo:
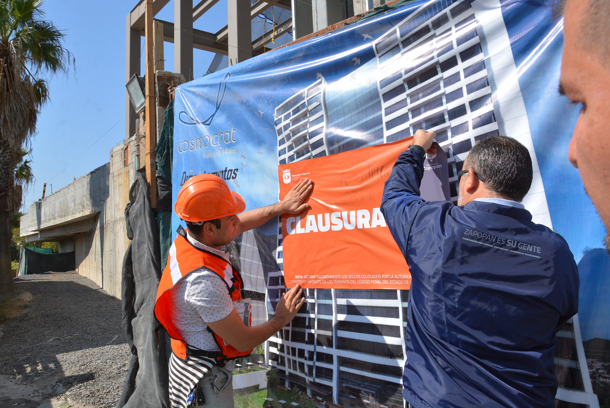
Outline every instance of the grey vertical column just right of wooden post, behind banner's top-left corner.
<path fill-rule="evenodd" d="M 193 0 L 174 0 L 174 72 L 193 77 Z"/>

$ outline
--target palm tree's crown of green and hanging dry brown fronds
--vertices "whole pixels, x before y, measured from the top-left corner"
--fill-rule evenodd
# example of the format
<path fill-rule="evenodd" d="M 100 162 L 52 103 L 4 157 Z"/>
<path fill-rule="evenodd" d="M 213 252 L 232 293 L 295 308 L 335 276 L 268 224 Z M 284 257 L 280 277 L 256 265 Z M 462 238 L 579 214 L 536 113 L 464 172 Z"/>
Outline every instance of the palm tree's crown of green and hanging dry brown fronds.
<path fill-rule="evenodd" d="M 49 74 L 68 73 L 74 56 L 65 33 L 44 20 L 42 0 L 0 0 L 0 149 L 13 166 L 36 132 L 49 100 Z"/>

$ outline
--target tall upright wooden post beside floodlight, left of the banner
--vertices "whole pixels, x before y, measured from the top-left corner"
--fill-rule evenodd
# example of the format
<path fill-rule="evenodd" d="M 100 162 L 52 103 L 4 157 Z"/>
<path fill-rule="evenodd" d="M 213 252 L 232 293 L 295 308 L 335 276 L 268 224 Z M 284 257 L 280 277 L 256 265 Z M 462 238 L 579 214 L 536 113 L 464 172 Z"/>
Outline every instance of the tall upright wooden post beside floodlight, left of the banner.
<path fill-rule="evenodd" d="M 154 98 L 154 29 L 153 29 L 152 0 L 146 0 L 146 153 L 144 165 L 146 166 L 146 180 L 150 187 L 151 207 L 157 206 L 157 177 L 155 149 L 157 148 L 157 126 L 155 125 L 156 104 Z"/>

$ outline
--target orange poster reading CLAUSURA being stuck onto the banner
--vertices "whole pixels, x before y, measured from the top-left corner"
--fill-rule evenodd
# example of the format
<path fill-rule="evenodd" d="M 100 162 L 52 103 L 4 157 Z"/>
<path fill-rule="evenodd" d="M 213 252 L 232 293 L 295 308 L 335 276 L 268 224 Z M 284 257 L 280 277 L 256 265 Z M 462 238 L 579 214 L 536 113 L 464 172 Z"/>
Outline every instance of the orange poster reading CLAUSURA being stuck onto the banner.
<path fill-rule="evenodd" d="M 411 142 L 279 166 L 282 199 L 299 181 L 314 181 L 311 208 L 282 215 L 286 287 L 409 289 L 409 267 L 379 207 L 392 166 Z"/>

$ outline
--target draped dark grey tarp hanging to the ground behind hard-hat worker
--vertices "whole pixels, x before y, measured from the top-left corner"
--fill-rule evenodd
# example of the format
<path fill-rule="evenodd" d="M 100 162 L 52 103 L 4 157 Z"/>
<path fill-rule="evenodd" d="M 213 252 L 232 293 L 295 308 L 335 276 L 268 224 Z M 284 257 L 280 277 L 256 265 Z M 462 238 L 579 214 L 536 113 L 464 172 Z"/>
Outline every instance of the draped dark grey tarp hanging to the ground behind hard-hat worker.
<path fill-rule="evenodd" d="M 132 356 L 117 408 L 168 408 L 165 342 L 157 341 L 160 324 L 154 317 L 161 276 L 159 236 L 152 214 L 148 183 L 136 172 L 125 209 L 127 238 L 123 259 L 123 330 Z M 160 332 L 162 335 L 162 332 Z"/>

